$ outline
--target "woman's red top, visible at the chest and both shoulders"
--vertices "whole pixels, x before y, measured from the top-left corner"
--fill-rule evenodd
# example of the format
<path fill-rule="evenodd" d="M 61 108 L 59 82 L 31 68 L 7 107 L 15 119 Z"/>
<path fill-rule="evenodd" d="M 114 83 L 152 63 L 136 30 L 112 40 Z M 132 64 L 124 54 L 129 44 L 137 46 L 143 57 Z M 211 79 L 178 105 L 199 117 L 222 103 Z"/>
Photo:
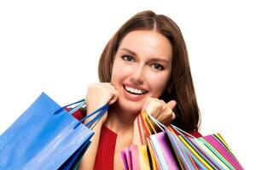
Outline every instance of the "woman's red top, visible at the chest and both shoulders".
<path fill-rule="evenodd" d="M 73 116 L 81 120 L 85 115 L 81 111 L 75 111 Z M 201 137 L 201 133 L 194 131 L 190 133 L 195 138 Z M 106 126 L 102 126 L 98 150 L 96 154 L 95 170 L 113 170 L 113 156 L 117 134 Z"/>

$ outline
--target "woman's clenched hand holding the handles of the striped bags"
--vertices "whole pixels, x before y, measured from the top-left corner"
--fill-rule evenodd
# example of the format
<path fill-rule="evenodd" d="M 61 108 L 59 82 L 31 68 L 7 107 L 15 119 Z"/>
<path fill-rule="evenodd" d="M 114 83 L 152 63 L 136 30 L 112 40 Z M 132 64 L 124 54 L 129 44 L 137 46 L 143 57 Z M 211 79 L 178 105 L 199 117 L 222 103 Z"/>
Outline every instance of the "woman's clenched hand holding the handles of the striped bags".
<path fill-rule="evenodd" d="M 175 100 L 166 103 L 162 99 L 148 98 L 143 105 L 143 110 L 146 110 L 148 114 L 154 116 L 162 124 L 168 125 L 175 119 L 175 113 L 172 110 L 176 105 Z"/>

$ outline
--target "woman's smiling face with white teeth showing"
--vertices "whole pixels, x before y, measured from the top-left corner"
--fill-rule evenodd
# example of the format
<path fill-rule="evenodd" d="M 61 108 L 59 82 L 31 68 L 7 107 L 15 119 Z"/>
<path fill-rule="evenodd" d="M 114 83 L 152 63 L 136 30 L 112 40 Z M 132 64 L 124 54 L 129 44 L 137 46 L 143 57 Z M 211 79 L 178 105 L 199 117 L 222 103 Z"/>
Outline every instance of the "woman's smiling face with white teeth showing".
<path fill-rule="evenodd" d="M 120 42 L 113 60 L 111 83 L 118 105 L 138 113 L 148 97 L 159 98 L 172 71 L 172 45 L 156 31 L 131 31 Z"/>

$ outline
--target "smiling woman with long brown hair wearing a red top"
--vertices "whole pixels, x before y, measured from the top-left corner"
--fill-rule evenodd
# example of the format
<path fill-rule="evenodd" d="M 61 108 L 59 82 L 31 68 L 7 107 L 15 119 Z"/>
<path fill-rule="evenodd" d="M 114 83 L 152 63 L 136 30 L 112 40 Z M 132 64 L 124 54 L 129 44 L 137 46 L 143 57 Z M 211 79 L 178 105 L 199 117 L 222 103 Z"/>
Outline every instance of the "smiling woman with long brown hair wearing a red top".
<path fill-rule="evenodd" d="M 195 134 L 200 112 L 189 58 L 178 26 L 168 17 L 143 11 L 119 28 L 99 62 L 100 83 L 89 86 L 86 111 L 109 104 L 79 169 L 123 169 L 120 150 L 137 143 L 137 116 L 146 110 L 164 124 Z"/>

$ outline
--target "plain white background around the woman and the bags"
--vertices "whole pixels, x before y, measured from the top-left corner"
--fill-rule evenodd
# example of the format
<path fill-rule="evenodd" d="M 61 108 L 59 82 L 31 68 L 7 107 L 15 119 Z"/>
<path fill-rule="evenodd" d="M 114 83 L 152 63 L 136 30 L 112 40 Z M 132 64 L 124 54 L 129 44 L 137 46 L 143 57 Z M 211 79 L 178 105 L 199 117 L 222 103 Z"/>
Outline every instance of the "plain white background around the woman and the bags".
<path fill-rule="evenodd" d="M 98 81 L 97 62 L 109 38 L 133 14 L 151 9 L 183 31 L 201 133 L 221 133 L 243 167 L 253 169 L 255 5 L 112 2 L 0 2 L 0 133 L 43 91 L 60 105 L 83 99 L 87 85 Z"/>

